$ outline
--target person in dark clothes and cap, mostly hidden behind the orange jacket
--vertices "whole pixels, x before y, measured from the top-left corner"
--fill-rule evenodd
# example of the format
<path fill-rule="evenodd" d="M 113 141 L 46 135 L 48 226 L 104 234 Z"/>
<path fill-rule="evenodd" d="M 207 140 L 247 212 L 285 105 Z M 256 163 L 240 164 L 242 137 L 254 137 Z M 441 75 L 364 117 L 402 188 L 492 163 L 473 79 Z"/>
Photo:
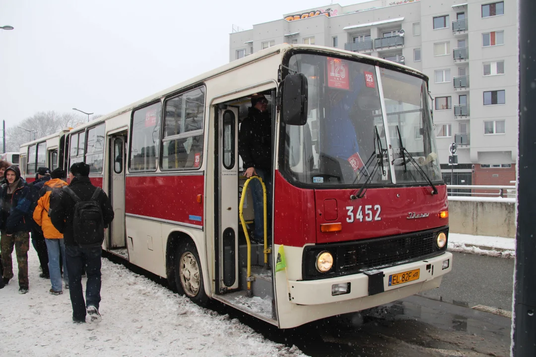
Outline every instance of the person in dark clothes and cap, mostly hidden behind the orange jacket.
<path fill-rule="evenodd" d="M 43 188 L 43 185 L 48 180 L 50 180 L 50 169 L 40 167 L 37 169 L 35 181 L 28 184 L 30 193 L 32 195 L 32 206 L 30 208 L 31 212 L 33 212 L 37 206 L 37 201 L 39 200 L 39 191 L 41 188 Z M 41 274 L 39 274 L 39 277 L 50 279 L 50 272 L 48 270 L 47 244 L 44 241 L 43 231 L 41 230 L 41 227 L 35 224 L 33 220 L 29 222 L 29 227 L 32 232 L 32 246 L 34 247 L 35 252 L 37 252 L 39 263 L 41 264 Z"/>

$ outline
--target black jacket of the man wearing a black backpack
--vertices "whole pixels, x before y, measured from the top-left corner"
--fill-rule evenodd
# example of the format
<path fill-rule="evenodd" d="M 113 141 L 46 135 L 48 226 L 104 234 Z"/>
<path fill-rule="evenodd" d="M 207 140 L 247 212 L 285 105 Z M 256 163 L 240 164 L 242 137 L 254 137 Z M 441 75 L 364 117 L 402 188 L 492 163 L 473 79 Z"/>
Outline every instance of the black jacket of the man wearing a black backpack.
<path fill-rule="evenodd" d="M 91 200 L 96 187 L 91 184 L 87 176 L 76 177 L 71 180 L 69 187 L 80 198 L 81 201 Z M 99 195 L 99 202 L 102 210 L 102 218 L 105 227 L 108 227 L 114 219 L 114 210 L 111 208 L 110 200 L 104 191 Z M 50 221 L 54 227 L 63 234 L 65 245 L 74 246 L 72 231 L 72 216 L 75 211 L 75 201 L 63 189 L 54 190 L 50 194 Z"/>

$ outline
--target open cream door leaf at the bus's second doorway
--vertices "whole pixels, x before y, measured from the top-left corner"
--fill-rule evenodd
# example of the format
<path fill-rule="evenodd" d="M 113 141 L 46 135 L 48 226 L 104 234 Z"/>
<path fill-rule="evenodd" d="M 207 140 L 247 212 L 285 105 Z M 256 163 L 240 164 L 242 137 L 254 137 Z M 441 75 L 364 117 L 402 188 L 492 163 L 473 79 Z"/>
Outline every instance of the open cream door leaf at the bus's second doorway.
<path fill-rule="evenodd" d="M 108 165 L 109 198 L 114 208 L 114 220 L 108 230 L 106 247 L 122 257 L 128 257 L 125 235 L 125 147 L 126 132 L 108 136 L 110 158 Z M 115 249 L 116 251 L 114 252 Z"/>

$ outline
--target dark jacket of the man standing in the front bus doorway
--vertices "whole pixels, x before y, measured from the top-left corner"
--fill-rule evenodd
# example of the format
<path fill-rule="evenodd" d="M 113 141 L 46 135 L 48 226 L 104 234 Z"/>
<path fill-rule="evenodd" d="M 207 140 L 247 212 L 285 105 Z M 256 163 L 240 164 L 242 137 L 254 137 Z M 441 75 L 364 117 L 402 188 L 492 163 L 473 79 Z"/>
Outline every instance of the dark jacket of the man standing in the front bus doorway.
<path fill-rule="evenodd" d="M 270 170 L 272 167 L 272 118 L 270 113 L 261 113 L 249 108 L 248 117 L 240 125 L 238 153 L 244 169 Z"/>

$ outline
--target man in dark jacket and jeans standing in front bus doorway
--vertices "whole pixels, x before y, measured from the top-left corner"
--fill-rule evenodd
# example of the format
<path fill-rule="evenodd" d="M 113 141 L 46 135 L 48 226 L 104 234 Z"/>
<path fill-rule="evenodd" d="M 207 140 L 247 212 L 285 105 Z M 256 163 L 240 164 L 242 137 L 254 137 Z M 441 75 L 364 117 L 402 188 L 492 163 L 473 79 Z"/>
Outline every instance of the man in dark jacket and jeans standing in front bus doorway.
<path fill-rule="evenodd" d="M 272 211 L 272 118 L 267 109 L 268 101 L 264 95 L 251 97 L 249 115 L 240 126 L 238 151 L 244 162 L 245 177 L 259 176 L 266 186 L 267 232 L 268 236 L 270 236 Z M 252 180 L 249 185 L 252 190 L 255 215 L 255 230 L 252 241 L 260 244 L 264 242 L 263 187 L 258 180 Z"/>

